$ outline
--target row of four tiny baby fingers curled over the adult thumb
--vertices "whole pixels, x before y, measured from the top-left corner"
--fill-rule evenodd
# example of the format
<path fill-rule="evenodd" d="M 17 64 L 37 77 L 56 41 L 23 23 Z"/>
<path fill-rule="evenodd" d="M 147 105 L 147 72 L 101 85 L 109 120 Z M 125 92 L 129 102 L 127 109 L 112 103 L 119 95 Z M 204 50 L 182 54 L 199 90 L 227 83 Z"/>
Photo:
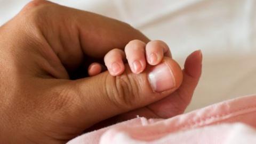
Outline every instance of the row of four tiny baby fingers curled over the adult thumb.
<path fill-rule="evenodd" d="M 145 44 L 140 40 L 132 40 L 124 50 L 112 49 L 104 58 L 109 73 L 113 76 L 121 75 L 124 70 L 124 61 L 128 61 L 133 73 L 141 73 L 145 70 L 146 65 L 157 65 L 161 63 L 164 56 L 171 57 L 169 47 L 161 40 L 153 40 Z M 89 74 L 95 75 L 100 73 L 99 64 L 93 63 L 89 67 Z"/>

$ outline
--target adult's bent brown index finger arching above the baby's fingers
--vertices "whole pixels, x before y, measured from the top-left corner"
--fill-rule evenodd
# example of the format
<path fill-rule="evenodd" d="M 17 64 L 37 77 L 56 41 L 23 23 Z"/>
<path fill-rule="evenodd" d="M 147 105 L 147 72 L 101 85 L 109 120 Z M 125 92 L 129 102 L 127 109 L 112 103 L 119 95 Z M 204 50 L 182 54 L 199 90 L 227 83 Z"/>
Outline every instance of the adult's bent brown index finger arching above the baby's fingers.
<path fill-rule="evenodd" d="M 127 23 L 48 1 L 30 2 L 15 19 L 33 23 L 29 26 L 40 31 L 37 37 L 49 44 L 45 49 L 51 48 L 68 70 L 76 69 L 86 56 L 103 58 L 113 48 L 124 49 L 133 39 L 149 41 Z"/>

